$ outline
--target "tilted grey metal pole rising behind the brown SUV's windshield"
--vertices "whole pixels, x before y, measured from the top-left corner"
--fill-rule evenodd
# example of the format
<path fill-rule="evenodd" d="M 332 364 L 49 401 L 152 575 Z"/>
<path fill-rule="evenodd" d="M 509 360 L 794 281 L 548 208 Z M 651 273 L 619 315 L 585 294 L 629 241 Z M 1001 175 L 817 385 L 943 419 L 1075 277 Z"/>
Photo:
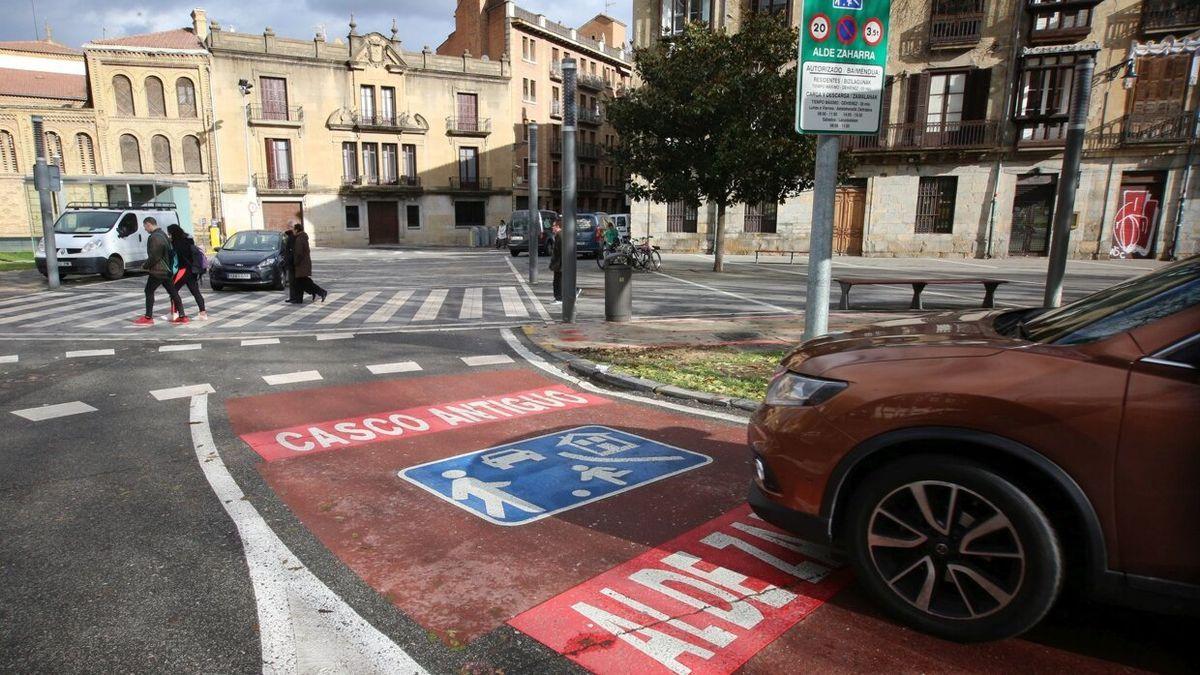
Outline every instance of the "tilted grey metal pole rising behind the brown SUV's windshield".
<path fill-rule="evenodd" d="M 1079 187 L 1079 161 L 1084 154 L 1084 132 L 1087 127 L 1087 107 L 1092 97 L 1092 72 L 1096 61 L 1085 56 L 1075 64 L 1075 86 L 1070 94 L 1070 118 L 1067 123 L 1067 149 L 1062 155 L 1062 175 L 1058 198 L 1054 209 L 1054 229 L 1050 237 L 1050 264 L 1046 270 L 1045 306 L 1062 305 L 1062 280 L 1067 274 L 1067 249 L 1070 244 L 1070 217 L 1075 213 L 1075 190 Z"/>

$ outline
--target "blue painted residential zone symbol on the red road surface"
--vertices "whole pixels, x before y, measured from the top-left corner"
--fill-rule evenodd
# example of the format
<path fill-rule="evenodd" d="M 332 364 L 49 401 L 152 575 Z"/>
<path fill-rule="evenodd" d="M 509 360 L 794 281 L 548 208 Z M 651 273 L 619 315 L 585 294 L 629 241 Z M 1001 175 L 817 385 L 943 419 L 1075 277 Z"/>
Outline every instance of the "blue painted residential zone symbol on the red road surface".
<path fill-rule="evenodd" d="M 580 426 L 413 466 L 400 477 L 484 520 L 524 525 L 710 461 L 607 426 Z"/>

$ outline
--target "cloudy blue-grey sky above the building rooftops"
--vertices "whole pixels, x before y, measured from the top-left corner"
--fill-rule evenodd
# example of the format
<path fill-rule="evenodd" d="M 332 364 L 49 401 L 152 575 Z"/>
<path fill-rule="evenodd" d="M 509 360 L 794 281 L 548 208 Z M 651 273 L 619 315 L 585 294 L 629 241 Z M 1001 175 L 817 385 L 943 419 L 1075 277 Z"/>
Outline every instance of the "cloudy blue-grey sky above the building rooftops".
<path fill-rule="evenodd" d="M 78 47 L 103 36 L 119 37 L 138 32 L 168 30 L 191 25 L 192 8 L 204 7 L 209 18 L 222 28 L 239 32 L 262 32 L 271 26 L 288 37 L 311 37 L 324 26 L 330 40 L 344 36 L 350 12 L 359 32 L 388 35 L 396 19 L 404 48 L 419 50 L 437 46 L 454 29 L 457 0 L 4 0 L 5 20 L 0 22 L 0 41 L 31 40 L 34 26 L 44 37 L 42 26 L 49 22 L 54 40 Z M 521 7 L 547 18 L 578 26 L 605 12 L 606 0 L 521 0 Z M 610 4 L 610 13 L 630 23 L 632 0 Z M 34 16 L 37 16 L 35 22 Z"/>

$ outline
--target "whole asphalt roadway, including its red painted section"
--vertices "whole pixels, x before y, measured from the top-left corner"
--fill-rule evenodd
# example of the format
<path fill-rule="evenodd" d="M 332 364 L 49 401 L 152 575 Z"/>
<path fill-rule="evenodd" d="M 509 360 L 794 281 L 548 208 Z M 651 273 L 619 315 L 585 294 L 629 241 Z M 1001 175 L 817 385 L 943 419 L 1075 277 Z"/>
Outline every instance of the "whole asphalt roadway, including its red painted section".
<path fill-rule="evenodd" d="M 802 265 L 734 262 L 731 273 L 714 277 L 704 271 L 703 257 L 668 257 L 665 274 L 637 276 L 636 313 L 803 309 Z M 564 641 L 562 632 L 576 626 L 578 616 L 563 608 L 590 603 L 613 614 L 624 608 L 626 619 L 656 623 L 653 607 L 630 614 L 631 605 L 611 604 L 611 596 L 605 599 L 589 584 L 612 584 L 650 603 L 636 589 L 619 586 L 628 585 L 622 575 L 629 565 L 655 563 L 647 556 L 661 556 L 667 542 L 694 550 L 697 533 L 750 522 L 739 510 L 749 479 L 743 425 L 728 411 L 631 399 L 562 377 L 511 328 L 554 312 L 548 276 L 527 289 L 510 263 L 521 269 L 526 258 L 320 252 L 316 276 L 331 293 L 347 293 L 350 303 L 379 291 L 336 324 L 320 322 L 340 305 L 316 310 L 304 323 L 270 327 L 284 310 L 252 316 L 263 304 L 232 316 L 214 309 L 212 330 L 84 327 L 84 319 L 121 313 L 119 303 L 126 300 L 120 294 L 136 293 L 138 277 L 73 287 L 70 293 L 84 304 L 0 297 L 0 321 L 46 312 L 0 323 L 0 670 L 570 673 L 658 667 L 624 638 L 596 641 L 580 633 Z M 1013 292 L 1002 292 L 1002 301 L 1018 304 L 1039 294 L 1038 262 L 1019 263 L 979 270 L 1027 282 L 1010 285 Z M 847 265 L 971 273 L 962 263 L 959 269 L 940 261 L 841 263 Z M 1151 265 L 1073 264 L 1069 293 L 1106 286 L 1144 267 Z M 581 317 L 601 315 L 599 281 L 594 263 L 582 262 Z M 496 293 L 482 295 L 482 317 L 463 321 L 467 294 L 448 292 L 436 315 L 414 325 L 436 289 L 498 287 L 514 288 L 528 316 L 506 316 L 505 298 Z M 376 325 L 366 321 L 403 289 L 413 291 L 413 305 L 401 304 Z M 505 295 L 515 313 L 511 294 Z M 870 289 L 862 299 L 888 309 L 907 306 L 904 289 Z M 942 300 L 965 307 L 978 298 L 966 291 Z M 236 300 L 242 301 L 248 300 Z M 55 309 L 62 305 L 74 309 Z M 100 306 L 115 309 L 98 312 Z M 71 312 L 91 313 L 80 318 Z M 50 329 L 28 328 L 62 316 L 67 321 Z M 186 330 L 192 331 L 181 333 Z M 545 393 L 556 388 L 584 402 L 541 405 L 545 410 L 536 414 L 529 406 L 524 412 L 485 407 L 492 419 L 434 420 L 420 434 L 359 436 L 371 436 L 362 442 L 335 426 L 380 413 L 433 420 L 432 407 L 444 416 L 462 401 L 529 392 L 541 392 L 538 400 L 545 402 Z M 614 428 L 709 461 L 509 527 L 403 476 L 422 462 L 587 425 Z M 340 441 L 323 432 L 341 434 Z M 281 437 L 294 447 L 311 441 L 312 447 L 278 456 L 272 453 Z M 594 490 L 596 483 L 588 486 Z M 506 508 L 500 509 L 504 518 Z M 806 598 L 788 605 L 786 617 L 773 616 L 778 620 L 770 623 L 782 631 L 738 632 L 721 650 L 708 650 L 714 656 L 692 663 L 707 671 L 740 667 L 746 673 L 1186 671 L 1193 665 L 1194 622 L 1074 601 L 1021 639 L 982 646 L 942 643 L 880 616 L 836 560 L 814 560 L 827 577 L 780 581 Z M 684 615 L 676 614 L 678 608 L 662 611 Z M 595 628 L 594 622 L 578 626 Z"/>

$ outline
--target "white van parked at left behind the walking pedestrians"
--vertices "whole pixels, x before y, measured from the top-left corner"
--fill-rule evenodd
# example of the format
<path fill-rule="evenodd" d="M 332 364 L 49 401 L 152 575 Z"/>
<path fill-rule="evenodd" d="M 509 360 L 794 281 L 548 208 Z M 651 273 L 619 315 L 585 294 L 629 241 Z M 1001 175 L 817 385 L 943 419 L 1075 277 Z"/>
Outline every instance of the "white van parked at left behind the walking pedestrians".
<path fill-rule="evenodd" d="M 54 222 L 59 275 L 100 274 L 120 279 L 126 270 L 142 269 L 146 259 L 146 238 L 142 222 L 152 217 L 158 227 L 179 225 L 175 204 L 138 205 L 72 202 Z M 37 270 L 46 271 L 46 241 L 34 253 Z"/>

